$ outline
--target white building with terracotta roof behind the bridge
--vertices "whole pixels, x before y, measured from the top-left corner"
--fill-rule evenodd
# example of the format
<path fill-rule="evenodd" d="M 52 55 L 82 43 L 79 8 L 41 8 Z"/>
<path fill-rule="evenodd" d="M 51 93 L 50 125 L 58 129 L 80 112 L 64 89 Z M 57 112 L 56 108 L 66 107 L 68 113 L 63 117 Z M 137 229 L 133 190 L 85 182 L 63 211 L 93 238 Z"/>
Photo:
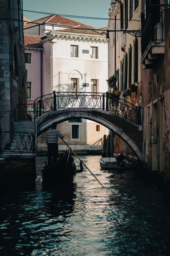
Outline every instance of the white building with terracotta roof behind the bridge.
<path fill-rule="evenodd" d="M 36 51 L 41 51 L 36 48 L 36 44 L 34 45 L 34 37 L 31 35 L 36 36 L 35 43 L 37 43 L 37 35 L 43 36 L 40 38 L 43 47 L 42 57 L 39 58 L 39 61 L 42 61 L 41 81 L 38 82 L 37 76 L 33 74 L 40 72 L 41 63 L 37 65 L 36 61 L 35 66 L 33 66 L 34 63 L 28 63 L 28 65 L 26 63 L 30 94 L 28 103 L 32 103 L 33 99 L 41 96 L 37 95 L 40 91 L 42 95 L 52 93 L 54 90 L 56 92 L 106 93 L 108 42 L 106 35 L 101 34 L 103 31 L 93 29 L 58 15 L 25 24 L 24 33 L 27 34 L 25 37 L 27 42 L 30 40 L 30 44 L 25 45 L 25 53 L 31 54 L 30 62 L 31 59 L 34 60 Z M 42 87 L 41 90 L 40 87 Z M 83 145 L 83 149 L 90 149 L 95 147 L 90 145 L 95 144 L 96 148 L 102 148 L 103 135 L 107 134 L 106 128 L 85 119 L 73 120 L 73 122 L 74 124 L 67 121 L 58 126 L 70 145 L 80 145 L 81 149 Z M 42 139 L 41 142 L 43 142 Z M 42 147 L 44 147 L 43 144 Z"/>

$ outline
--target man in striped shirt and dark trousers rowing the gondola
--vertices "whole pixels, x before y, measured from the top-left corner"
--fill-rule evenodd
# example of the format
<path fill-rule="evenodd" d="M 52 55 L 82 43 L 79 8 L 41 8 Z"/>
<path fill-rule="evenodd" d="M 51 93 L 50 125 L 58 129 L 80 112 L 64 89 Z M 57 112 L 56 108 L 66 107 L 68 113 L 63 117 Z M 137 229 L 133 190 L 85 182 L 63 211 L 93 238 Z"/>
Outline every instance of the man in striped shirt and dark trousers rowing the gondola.
<path fill-rule="evenodd" d="M 52 156 L 53 156 L 53 163 L 57 161 L 58 155 L 58 137 L 61 139 L 64 138 L 63 134 L 56 129 L 57 123 L 52 123 L 52 128 L 50 128 L 46 132 L 45 142 L 48 146 L 48 164 L 51 165 Z"/>

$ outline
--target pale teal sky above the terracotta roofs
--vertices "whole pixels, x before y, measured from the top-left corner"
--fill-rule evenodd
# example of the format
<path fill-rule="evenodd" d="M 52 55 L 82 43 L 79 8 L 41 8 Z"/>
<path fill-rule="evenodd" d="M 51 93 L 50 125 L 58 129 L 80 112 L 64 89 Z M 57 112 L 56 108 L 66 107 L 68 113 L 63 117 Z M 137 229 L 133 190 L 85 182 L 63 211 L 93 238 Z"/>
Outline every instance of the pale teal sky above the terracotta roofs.
<path fill-rule="evenodd" d="M 110 2 L 110 0 L 23 0 L 23 10 L 108 18 Z M 31 21 L 48 16 L 46 14 L 28 11 L 24 11 L 23 14 Z M 70 19 L 96 28 L 106 27 L 108 22 L 107 20 L 92 20 L 82 18 Z"/>

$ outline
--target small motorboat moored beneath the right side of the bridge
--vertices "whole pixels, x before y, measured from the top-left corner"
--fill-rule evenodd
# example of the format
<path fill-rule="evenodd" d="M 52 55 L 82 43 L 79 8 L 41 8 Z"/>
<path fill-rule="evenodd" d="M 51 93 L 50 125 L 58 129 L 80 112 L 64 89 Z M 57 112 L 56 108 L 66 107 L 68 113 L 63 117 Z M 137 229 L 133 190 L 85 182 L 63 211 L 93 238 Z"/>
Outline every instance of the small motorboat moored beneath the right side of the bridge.
<path fill-rule="evenodd" d="M 117 161 L 116 157 L 101 157 L 99 158 L 100 167 L 103 169 L 130 169 L 132 164 L 127 160 Z"/>

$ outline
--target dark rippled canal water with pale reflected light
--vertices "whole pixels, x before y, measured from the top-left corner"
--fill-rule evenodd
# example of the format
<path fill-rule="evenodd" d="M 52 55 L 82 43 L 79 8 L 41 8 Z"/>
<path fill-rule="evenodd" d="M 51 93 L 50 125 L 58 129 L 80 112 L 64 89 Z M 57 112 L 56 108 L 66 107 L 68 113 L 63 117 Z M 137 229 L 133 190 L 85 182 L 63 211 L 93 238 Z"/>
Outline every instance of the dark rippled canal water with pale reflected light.
<path fill-rule="evenodd" d="M 156 186 L 133 170 L 101 170 L 99 156 L 82 156 L 88 170 L 71 188 L 8 188 L 0 199 L 0 255 L 170 255 L 170 207 Z M 78 161 L 75 159 L 76 164 Z"/>

